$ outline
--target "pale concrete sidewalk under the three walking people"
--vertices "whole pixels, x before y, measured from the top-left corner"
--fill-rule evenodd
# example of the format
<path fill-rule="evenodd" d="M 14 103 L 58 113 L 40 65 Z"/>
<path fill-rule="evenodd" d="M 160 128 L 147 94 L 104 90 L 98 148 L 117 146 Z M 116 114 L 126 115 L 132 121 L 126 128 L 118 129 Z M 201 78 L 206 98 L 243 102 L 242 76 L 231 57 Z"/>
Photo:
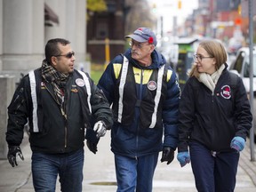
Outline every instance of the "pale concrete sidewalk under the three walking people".
<path fill-rule="evenodd" d="M 84 191 L 115 192 L 116 175 L 114 156 L 110 151 L 110 132 L 100 140 L 97 155 L 92 154 L 87 147 L 84 148 Z M 28 137 L 24 138 L 21 150 L 25 160 L 18 159 L 18 167 L 12 168 L 7 160 L 0 160 L 0 192 L 34 191 Z M 256 191 L 256 162 L 251 162 L 250 158 L 249 141 L 247 140 L 247 147 L 240 157 L 235 192 Z M 154 192 L 196 192 L 190 164 L 180 168 L 176 156 L 172 164 L 169 165 L 159 161 L 156 166 L 153 186 Z M 56 191 L 60 191 L 59 181 L 57 181 Z"/>

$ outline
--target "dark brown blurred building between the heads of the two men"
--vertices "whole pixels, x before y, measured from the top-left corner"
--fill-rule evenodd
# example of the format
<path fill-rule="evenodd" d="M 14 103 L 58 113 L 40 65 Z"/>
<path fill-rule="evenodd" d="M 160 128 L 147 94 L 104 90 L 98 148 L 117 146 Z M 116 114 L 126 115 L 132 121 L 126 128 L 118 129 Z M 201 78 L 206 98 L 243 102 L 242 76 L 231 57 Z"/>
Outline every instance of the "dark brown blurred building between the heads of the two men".
<path fill-rule="evenodd" d="M 105 60 L 108 62 L 124 50 L 124 23 L 127 13 L 124 3 L 124 0 L 106 0 L 104 12 L 88 12 L 86 39 L 93 62 L 103 64 Z"/>

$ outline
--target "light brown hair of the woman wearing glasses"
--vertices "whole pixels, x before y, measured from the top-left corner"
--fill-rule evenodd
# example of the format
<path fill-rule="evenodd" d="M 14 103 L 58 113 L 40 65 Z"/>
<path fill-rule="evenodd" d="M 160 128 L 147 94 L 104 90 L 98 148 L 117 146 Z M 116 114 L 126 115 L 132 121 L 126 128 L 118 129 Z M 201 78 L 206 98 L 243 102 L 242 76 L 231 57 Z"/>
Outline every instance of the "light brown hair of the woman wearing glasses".
<path fill-rule="evenodd" d="M 227 52 L 218 40 L 204 40 L 199 46 L 204 48 L 204 50 L 209 54 L 210 57 L 213 57 L 216 60 L 215 69 L 218 70 L 223 63 L 227 62 Z M 189 72 L 188 76 L 199 76 L 199 72 L 194 65 Z"/>

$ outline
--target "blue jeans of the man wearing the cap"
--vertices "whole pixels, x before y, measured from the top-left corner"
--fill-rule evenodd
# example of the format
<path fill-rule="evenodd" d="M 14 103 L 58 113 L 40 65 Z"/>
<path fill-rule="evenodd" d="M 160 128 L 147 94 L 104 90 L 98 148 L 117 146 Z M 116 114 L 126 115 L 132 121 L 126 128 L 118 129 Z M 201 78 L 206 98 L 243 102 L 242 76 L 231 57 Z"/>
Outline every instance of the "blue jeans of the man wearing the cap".
<path fill-rule="evenodd" d="M 150 192 L 158 153 L 130 158 L 115 155 L 117 192 Z"/>

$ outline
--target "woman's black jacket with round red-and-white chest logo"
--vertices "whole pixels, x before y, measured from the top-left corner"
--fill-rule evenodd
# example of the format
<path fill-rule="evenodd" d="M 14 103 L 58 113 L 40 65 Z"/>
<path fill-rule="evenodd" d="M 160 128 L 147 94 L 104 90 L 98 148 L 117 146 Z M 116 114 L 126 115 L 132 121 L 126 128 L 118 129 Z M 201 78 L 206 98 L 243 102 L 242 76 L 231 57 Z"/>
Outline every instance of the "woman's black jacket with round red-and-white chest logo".
<path fill-rule="evenodd" d="M 251 127 L 250 104 L 240 77 L 236 87 L 231 86 L 229 72 L 225 69 L 213 95 L 195 76 L 188 79 L 180 100 L 179 152 L 188 151 L 192 140 L 209 150 L 230 151 L 231 140 L 235 136 L 246 140 Z"/>

